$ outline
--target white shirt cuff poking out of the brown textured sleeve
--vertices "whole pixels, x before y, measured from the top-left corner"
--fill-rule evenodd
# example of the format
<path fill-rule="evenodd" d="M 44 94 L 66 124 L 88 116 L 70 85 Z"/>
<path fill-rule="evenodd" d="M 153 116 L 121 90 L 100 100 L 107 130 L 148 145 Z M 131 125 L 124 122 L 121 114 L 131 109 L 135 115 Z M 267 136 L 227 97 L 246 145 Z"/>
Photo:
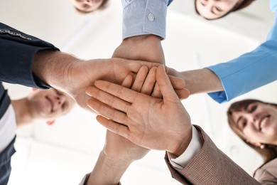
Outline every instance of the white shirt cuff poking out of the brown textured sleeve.
<path fill-rule="evenodd" d="M 197 132 L 197 129 L 192 126 L 192 139 L 190 141 L 190 144 L 188 145 L 188 148 L 179 157 L 176 157 L 174 154 L 170 154 L 168 152 L 169 162 L 175 168 L 183 169 L 190 162 L 190 159 L 192 159 L 195 154 L 200 151 L 201 148 L 202 142 L 200 140 L 200 136 Z"/>

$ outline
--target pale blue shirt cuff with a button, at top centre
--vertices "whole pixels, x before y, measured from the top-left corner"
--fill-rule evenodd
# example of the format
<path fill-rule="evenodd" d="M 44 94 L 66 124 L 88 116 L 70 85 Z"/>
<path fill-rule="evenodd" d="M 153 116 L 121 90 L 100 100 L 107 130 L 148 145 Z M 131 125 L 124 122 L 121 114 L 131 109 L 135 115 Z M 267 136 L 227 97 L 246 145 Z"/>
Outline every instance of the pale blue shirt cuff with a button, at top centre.
<path fill-rule="evenodd" d="M 165 38 L 168 0 L 122 0 L 123 39 L 153 34 Z"/>

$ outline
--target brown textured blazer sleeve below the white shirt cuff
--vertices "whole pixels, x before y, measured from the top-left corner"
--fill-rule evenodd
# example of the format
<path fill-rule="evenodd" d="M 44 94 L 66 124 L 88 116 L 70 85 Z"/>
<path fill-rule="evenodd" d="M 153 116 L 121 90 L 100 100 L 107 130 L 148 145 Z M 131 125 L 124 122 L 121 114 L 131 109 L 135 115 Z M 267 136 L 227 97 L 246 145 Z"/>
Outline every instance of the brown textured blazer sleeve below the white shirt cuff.
<path fill-rule="evenodd" d="M 182 184 L 259 184 L 254 178 L 219 150 L 197 125 L 203 146 L 184 169 L 174 168 L 165 154 L 165 162 L 174 179 Z"/>

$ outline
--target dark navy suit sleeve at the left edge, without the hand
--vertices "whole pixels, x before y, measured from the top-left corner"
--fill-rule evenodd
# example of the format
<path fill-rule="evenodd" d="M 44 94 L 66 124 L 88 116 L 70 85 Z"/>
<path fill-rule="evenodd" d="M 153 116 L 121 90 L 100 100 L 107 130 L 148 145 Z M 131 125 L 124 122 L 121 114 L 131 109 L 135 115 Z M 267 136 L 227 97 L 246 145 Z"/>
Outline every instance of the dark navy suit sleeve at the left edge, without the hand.
<path fill-rule="evenodd" d="M 32 73 L 38 51 L 58 51 L 53 44 L 0 23 L 0 81 L 34 88 L 48 88 Z"/>

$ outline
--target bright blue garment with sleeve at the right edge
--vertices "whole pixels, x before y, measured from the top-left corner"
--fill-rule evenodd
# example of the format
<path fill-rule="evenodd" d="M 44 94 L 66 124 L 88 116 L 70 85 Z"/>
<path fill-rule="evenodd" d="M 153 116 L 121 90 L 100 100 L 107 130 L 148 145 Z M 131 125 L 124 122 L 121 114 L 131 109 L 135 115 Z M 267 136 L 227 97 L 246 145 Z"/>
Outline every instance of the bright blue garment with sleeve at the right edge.
<path fill-rule="evenodd" d="M 271 11 L 277 11 L 277 1 L 270 1 Z M 277 15 L 266 41 L 250 53 L 227 63 L 212 65 L 224 91 L 209 93 L 217 102 L 226 102 L 251 90 L 277 80 Z"/>

